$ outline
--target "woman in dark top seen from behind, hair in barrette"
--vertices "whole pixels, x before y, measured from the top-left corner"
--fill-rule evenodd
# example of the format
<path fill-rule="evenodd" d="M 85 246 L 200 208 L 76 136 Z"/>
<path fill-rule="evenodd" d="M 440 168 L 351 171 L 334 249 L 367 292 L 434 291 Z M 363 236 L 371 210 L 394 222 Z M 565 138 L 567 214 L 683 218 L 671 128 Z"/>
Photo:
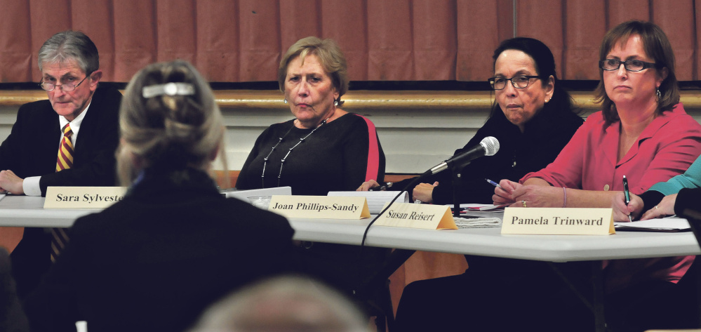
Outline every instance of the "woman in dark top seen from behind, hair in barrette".
<path fill-rule="evenodd" d="M 120 109 L 121 201 L 76 220 L 27 299 L 34 331 L 184 331 L 215 300 L 291 268 L 287 220 L 225 199 L 208 175 L 223 147 L 219 108 L 187 62 L 149 65 Z M 74 330 L 73 330 L 74 331 Z"/>

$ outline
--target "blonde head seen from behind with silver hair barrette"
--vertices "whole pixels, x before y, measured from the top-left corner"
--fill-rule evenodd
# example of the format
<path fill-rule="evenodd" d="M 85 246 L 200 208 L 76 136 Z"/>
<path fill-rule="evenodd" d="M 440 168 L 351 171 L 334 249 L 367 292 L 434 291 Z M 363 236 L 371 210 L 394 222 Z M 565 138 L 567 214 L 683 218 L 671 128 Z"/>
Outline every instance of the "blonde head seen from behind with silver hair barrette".
<path fill-rule="evenodd" d="M 135 74 L 124 93 L 119 125 L 122 185 L 131 185 L 146 169 L 206 171 L 223 147 L 222 114 L 211 88 L 185 61 L 155 63 Z"/>

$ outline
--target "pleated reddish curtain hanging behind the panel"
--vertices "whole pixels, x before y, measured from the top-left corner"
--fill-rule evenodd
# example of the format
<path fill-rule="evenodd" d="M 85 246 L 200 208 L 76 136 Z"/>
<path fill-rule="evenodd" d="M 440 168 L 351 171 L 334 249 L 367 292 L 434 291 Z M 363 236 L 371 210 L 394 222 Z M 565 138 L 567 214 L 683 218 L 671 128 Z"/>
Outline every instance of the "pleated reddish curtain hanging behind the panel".
<path fill-rule="evenodd" d="M 677 77 L 699 77 L 701 0 L 0 0 L 0 81 L 38 81 L 55 32 L 95 41 L 106 81 L 188 60 L 210 81 L 275 81 L 281 54 L 315 35 L 338 41 L 354 81 L 483 81 L 499 41 L 532 36 L 560 79 L 599 79 L 606 30 L 630 19 L 667 32 Z"/>

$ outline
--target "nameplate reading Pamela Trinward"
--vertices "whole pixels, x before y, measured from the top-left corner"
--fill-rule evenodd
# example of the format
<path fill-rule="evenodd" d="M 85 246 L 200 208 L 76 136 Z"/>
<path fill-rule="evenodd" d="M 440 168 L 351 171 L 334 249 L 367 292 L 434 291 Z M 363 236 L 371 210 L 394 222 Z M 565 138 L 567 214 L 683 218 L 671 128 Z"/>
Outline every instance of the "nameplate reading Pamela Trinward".
<path fill-rule="evenodd" d="M 612 208 L 505 208 L 502 234 L 615 234 Z"/>

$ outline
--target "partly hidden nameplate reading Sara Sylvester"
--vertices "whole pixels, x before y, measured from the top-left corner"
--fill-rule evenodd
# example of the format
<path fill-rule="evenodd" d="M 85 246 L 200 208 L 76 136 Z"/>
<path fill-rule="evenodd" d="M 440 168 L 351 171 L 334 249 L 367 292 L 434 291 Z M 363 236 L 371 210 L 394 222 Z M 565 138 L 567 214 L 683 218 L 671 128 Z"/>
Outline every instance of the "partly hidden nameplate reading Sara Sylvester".
<path fill-rule="evenodd" d="M 124 199 L 127 187 L 48 187 L 44 208 L 106 208 Z"/>

